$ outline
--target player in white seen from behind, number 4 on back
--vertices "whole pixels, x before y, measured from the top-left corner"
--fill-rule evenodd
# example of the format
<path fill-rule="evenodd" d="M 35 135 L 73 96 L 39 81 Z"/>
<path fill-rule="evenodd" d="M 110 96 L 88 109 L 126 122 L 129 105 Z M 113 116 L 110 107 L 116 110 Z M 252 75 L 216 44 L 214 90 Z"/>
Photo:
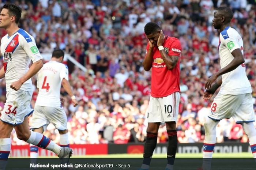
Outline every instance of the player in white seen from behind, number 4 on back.
<path fill-rule="evenodd" d="M 68 68 L 62 64 L 63 50 L 57 49 L 52 53 L 52 59 L 45 63 L 37 73 L 37 87 L 39 89 L 31 128 L 34 132 L 43 133 L 51 122 L 60 133 L 60 146 L 69 147 L 67 115 L 61 106 L 60 87 L 63 85 L 72 99 L 75 107 L 78 105 L 68 82 Z M 30 158 L 37 158 L 38 147 L 30 145 Z M 35 162 L 35 159 L 33 159 Z"/>

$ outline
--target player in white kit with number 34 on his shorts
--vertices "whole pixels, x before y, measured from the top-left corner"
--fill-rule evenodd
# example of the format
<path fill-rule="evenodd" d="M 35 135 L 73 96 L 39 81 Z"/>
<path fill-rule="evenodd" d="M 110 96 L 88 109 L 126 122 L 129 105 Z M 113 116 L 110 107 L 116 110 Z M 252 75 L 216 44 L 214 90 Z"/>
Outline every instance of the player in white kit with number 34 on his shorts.
<path fill-rule="evenodd" d="M 51 150 L 60 158 L 72 152 L 70 148 L 62 148 L 44 135 L 29 130 L 28 116 L 33 112 L 30 107 L 33 92 L 30 78 L 42 68 L 43 63 L 34 38 L 18 27 L 20 16 L 21 8 L 15 4 L 5 4 L 0 13 L 0 27 L 7 31 L 1 39 L 4 67 L 0 70 L 0 78 L 5 77 L 7 91 L 0 117 L 1 170 L 5 169 L 5 160 L 11 151 L 13 128 L 20 140 Z M 29 68 L 31 60 L 33 64 Z"/>

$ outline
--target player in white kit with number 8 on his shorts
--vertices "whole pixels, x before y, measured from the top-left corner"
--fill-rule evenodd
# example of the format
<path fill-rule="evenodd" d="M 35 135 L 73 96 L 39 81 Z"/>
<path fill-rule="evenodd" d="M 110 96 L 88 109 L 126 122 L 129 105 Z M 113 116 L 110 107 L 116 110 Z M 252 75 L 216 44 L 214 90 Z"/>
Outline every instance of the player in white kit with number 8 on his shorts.
<path fill-rule="evenodd" d="M 216 126 L 223 118 L 233 117 L 236 123 L 242 124 L 249 138 L 253 158 L 256 158 L 256 130 L 253 125 L 252 88 L 246 77 L 243 57 L 243 40 L 238 32 L 231 28 L 230 20 L 233 12 L 228 7 L 219 7 L 214 12 L 212 25 L 220 30 L 219 57 L 221 69 L 212 75 L 205 84 L 207 89 L 204 99 L 210 99 L 219 86 L 221 90 L 214 98 L 210 113 L 204 123 L 205 140 L 203 158 L 212 158 L 216 143 Z M 215 81 L 212 86 L 211 84 Z M 203 159 L 201 170 L 210 170 L 211 159 Z"/>

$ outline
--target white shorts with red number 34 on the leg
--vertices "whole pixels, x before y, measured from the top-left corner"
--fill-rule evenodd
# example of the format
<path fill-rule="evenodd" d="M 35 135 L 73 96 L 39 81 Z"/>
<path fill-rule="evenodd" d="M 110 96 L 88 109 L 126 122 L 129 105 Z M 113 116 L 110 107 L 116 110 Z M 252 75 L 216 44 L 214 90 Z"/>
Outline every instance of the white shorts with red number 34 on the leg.
<path fill-rule="evenodd" d="M 32 91 L 7 91 L 1 121 L 11 125 L 21 124 L 24 118 L 33 112 L 30 106 L 31 98 Z"/>

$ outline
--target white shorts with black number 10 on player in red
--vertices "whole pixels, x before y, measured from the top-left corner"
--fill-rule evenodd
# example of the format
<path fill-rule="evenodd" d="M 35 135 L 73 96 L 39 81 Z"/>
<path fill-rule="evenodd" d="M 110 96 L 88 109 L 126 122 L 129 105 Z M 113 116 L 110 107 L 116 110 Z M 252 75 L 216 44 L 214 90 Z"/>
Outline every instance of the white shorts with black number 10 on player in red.
<path fill-rule="evenodd" d="M 177 122 L 180 93 L 174 92 L 166 97 L 152 97 L 146 112 L 147 122 Z"/>

